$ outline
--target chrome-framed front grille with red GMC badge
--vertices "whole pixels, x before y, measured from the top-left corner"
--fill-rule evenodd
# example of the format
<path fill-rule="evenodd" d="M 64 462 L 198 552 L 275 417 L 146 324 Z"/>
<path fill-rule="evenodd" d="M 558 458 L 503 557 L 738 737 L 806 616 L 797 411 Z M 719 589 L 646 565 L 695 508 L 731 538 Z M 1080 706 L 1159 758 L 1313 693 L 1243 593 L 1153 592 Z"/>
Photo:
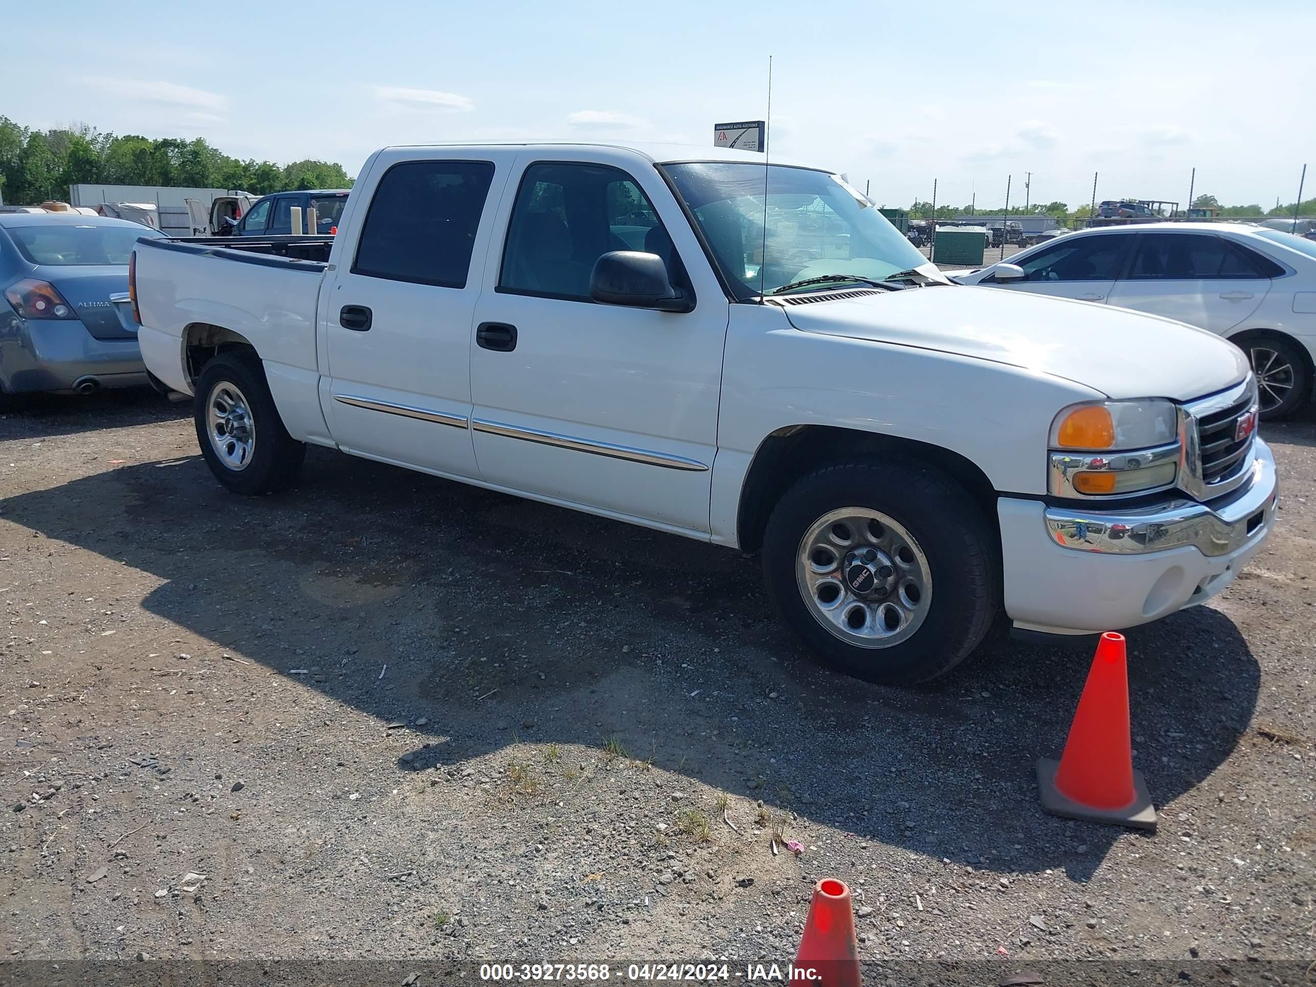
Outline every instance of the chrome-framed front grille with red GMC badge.
<path fill-rule="evenodd" d="M 1198 500 L 1211 500 L 1241 487 L 1252 475 L 1257 430 L 1242 438 L 1238 421 L 1257 411 L 1257 383 L 1200 397 L 1180 408 L 1184 438 L 1182 486 Z"/>

